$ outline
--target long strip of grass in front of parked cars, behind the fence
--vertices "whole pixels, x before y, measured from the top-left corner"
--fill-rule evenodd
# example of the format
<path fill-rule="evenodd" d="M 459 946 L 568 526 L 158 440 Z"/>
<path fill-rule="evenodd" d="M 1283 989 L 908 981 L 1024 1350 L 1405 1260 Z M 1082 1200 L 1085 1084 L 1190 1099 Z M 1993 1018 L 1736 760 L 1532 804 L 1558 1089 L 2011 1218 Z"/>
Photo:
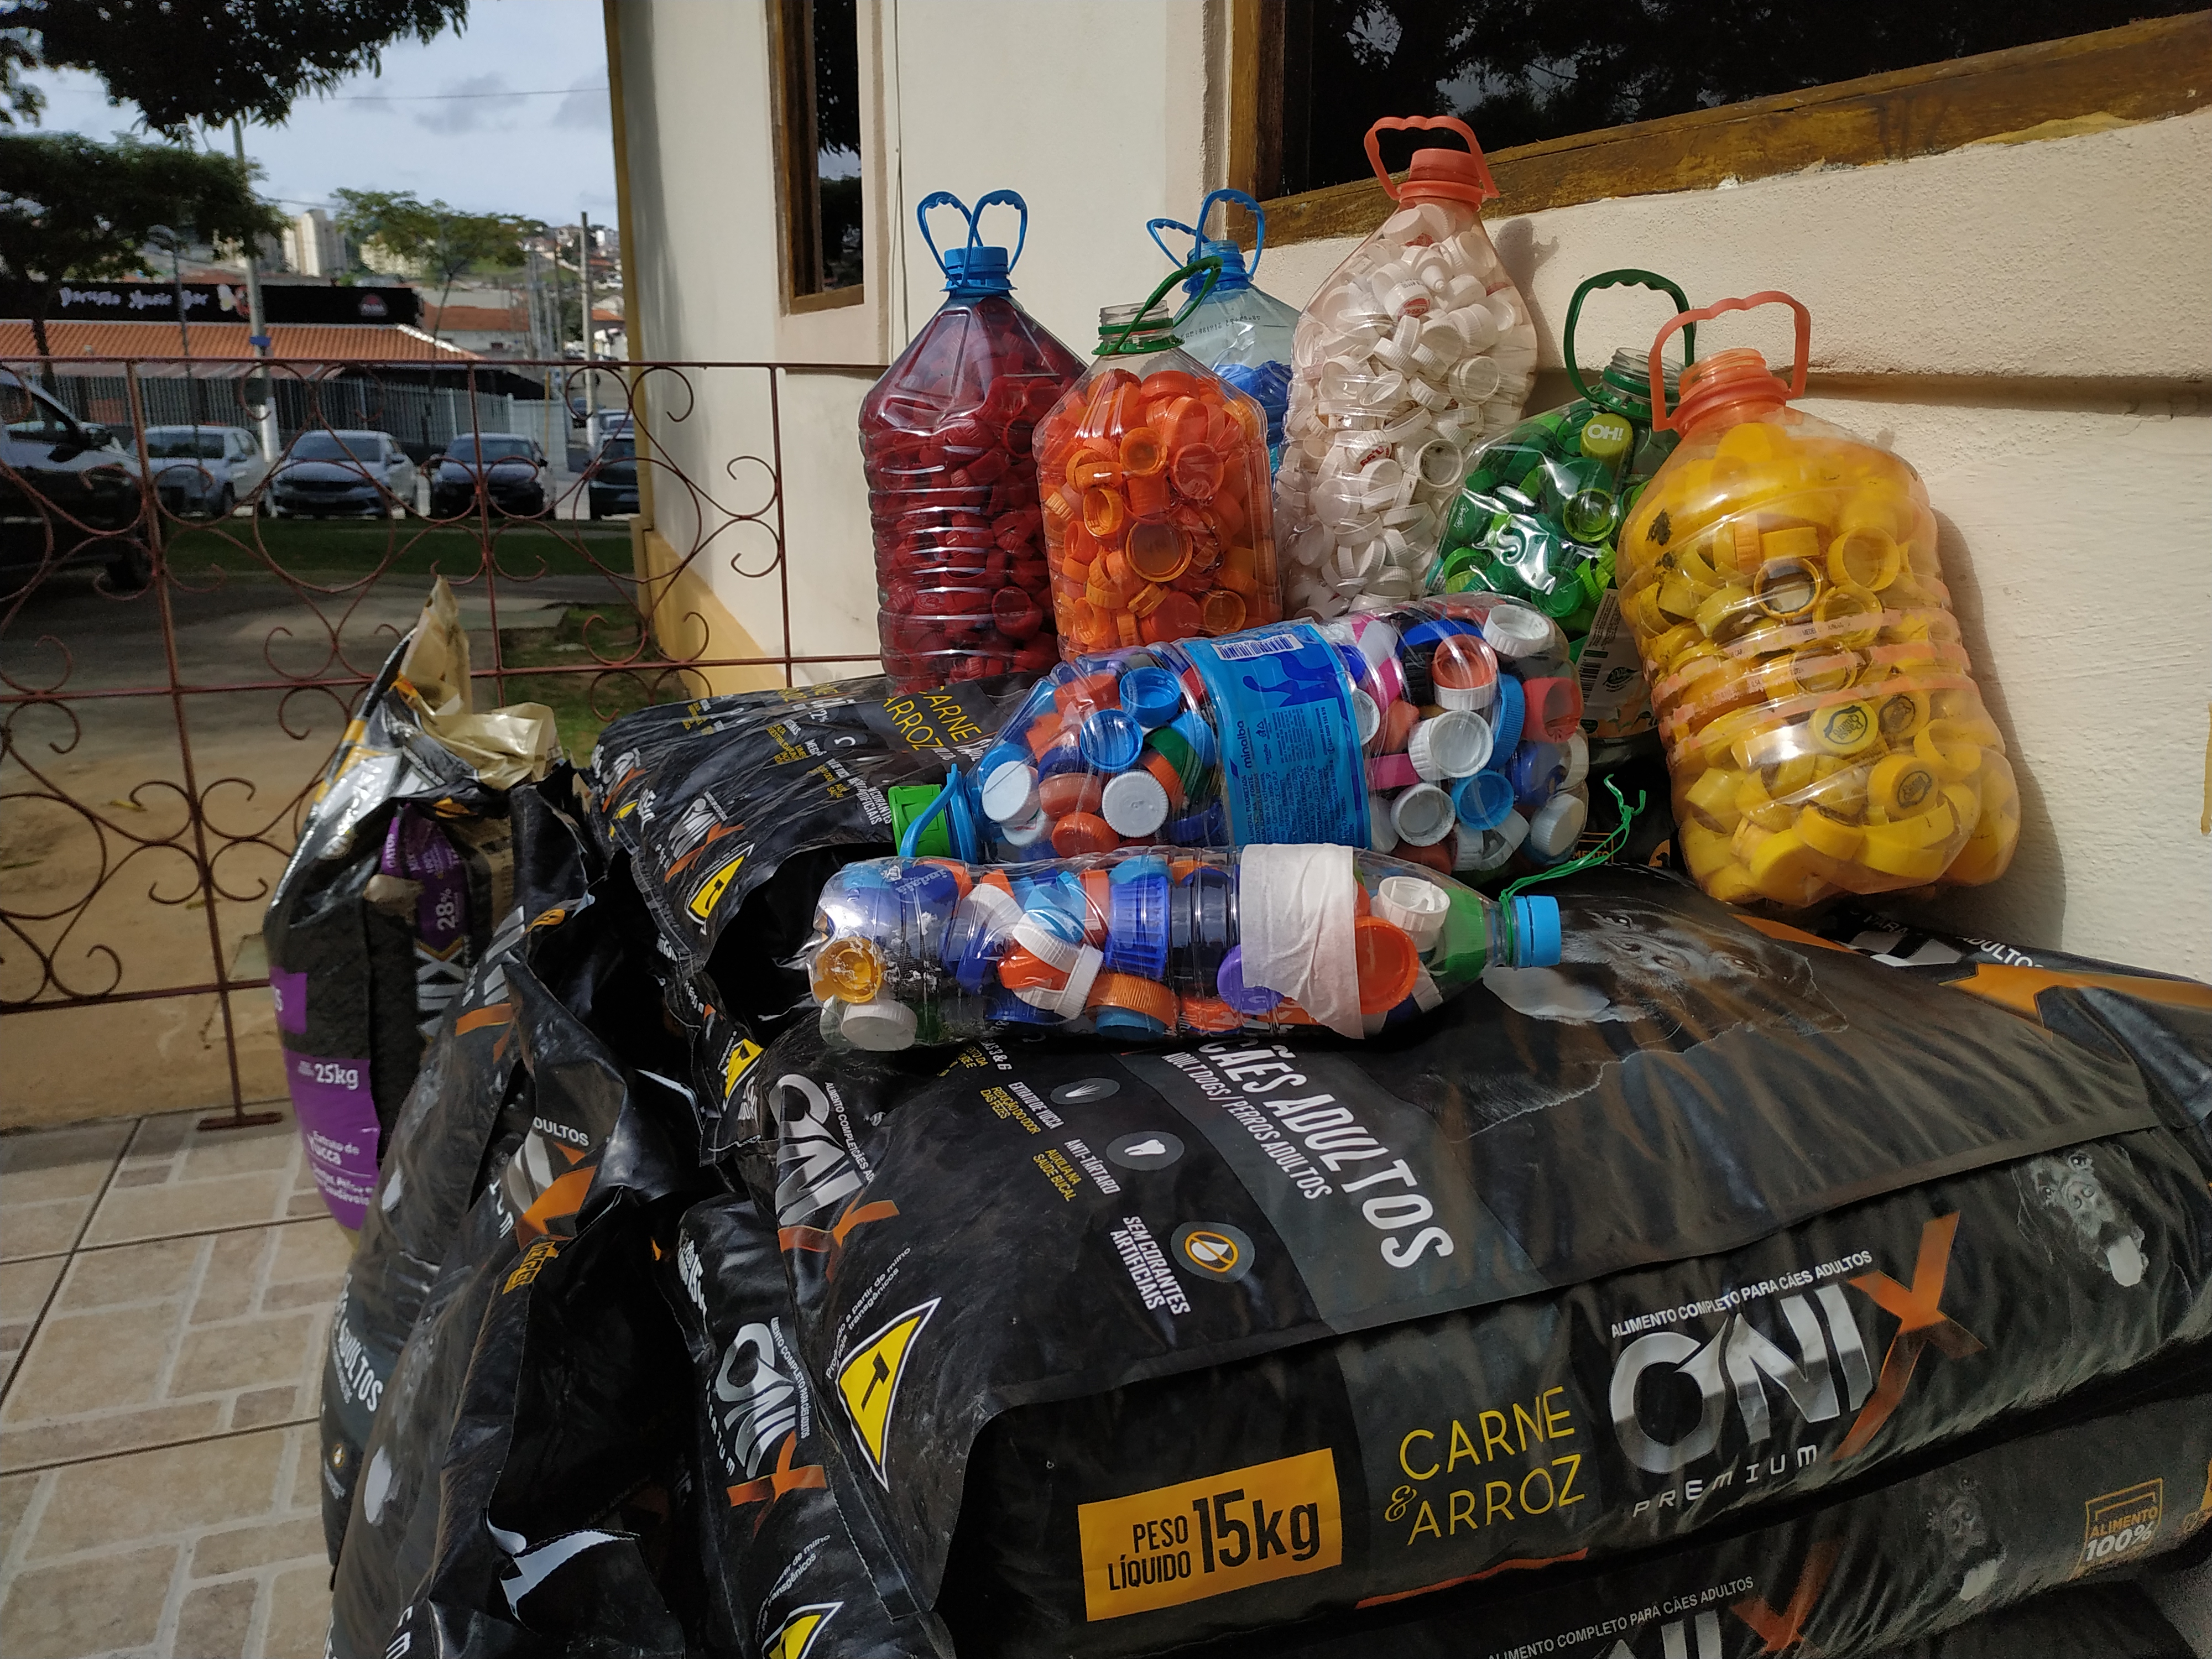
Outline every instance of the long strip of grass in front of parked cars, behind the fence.
<path fill-rule="evenodd" d="M 290 575 L 319 586 L 365 577 L 476 577 L 487 542 L 469 526 L 405 520 L 228 518 L 221 524 L 168 526 L 168 562 L 192 582 L 212 571 Z M 630 531 L 624 524 L 504 524 L 493 520 L 491 560 L 502 580 L 540 575 L 630 575 Z"/>

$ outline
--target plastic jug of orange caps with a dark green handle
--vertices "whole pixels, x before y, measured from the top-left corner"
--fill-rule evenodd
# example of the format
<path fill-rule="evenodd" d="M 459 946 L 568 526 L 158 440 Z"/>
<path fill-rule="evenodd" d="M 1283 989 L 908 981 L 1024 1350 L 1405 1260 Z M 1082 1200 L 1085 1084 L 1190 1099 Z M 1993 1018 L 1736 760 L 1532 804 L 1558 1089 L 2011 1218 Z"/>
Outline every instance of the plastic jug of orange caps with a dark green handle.
<path fill-rule="evenodd" d="M 1234 633 L 1283 615 L 1267 416 L 1181 349 L 1179 316 L 1099 312 L 1099 356 L 1037 422 L 1037 491 L 1060 655 Z"/>

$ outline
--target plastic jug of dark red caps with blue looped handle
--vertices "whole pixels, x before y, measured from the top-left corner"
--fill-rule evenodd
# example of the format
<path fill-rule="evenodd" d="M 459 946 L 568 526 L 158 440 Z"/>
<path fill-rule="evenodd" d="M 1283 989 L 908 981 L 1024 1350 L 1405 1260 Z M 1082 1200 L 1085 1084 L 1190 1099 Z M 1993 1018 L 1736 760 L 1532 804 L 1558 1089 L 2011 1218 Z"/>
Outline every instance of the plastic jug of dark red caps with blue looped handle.
<path fill-rule="evenodd" d="M 1022 215 L 1013 257 L 982 243 L 993 204 Z M 938 252 L 929 237 L 940 206 L 967 221 L 960 248 Z M 945 305 L 860 405 L 876 630 L 900 690 L 1057 661 L 1031 434 L 1082 374 L 1082 358 L 1013 301 L 1022 197 L 993 190 L 971 212 L 938 190 L 916 219 L 945 272 Z"/>

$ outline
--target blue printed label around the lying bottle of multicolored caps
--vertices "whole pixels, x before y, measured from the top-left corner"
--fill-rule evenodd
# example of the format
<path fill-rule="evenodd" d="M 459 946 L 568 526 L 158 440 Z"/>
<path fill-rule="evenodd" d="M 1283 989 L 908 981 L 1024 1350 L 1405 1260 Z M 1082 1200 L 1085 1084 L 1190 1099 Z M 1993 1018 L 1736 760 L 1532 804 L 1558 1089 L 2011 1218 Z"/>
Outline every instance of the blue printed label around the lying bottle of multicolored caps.
<path fill-rule="evenodd" d="M 1301 622 L 1234 639 L 1186 639 L 1221 739 L 1230 841 L 1367 845 L 1367 770 L 1352 684 Z"/>

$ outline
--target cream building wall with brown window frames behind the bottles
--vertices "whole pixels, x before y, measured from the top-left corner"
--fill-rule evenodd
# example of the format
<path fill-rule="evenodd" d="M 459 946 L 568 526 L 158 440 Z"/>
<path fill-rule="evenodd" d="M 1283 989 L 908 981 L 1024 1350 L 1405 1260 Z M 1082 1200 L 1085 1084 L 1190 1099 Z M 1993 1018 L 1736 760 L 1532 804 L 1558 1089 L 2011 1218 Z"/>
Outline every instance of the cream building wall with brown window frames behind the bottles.
<path fill-rule="evenodd" d="M 807 115 L 790 24 L 810 11 L 608 7 L 630 354 L 845 365 L 785 374 L 776 434 L 754 387 L 703 380 L 666 438 L 641 557 L 681 566 L 672 608 L 717 655 L 874 653 L 856 414 L 938 303 L 920 197 L 1020 190 L 1018 296 L 1088 354 L 1097 307 L 1168 272 L 1144 221 L 1188 217 L 1281 142 L 1265 0 L 860 0 L 856 131 L 825 126 L 810 168 L 787 142 Z M 2197 13 L 1500 150 L 1489 208 L 1542 336 L 1531 409 L 1568 396 L 1559 327 L 1593 272 L 1659 270 L 1694 303 L 1781 288 L 1812 307 L 1803 407 L 1924 476 L 2022 774 L 2011 874 L 1949 898 L 1949 918 L 2192 975 L 2212 975 L 2208 97 Z M 827 241 L 790 230 L 810 173 L 816 223 L 845 215 L 856 241 L 834 285 Z M 832 201 L 832 173 L 858 179 L 858 201 Z M 1303 303 L 1387 210 L 1374 181 L 1270 201 L 1259 285 Z M 1597 294 L 1584 363 L 1648 343 L 1650 305 Z M 1776 319 L 1712 341 L 1785 358 Z M 772 440 L 787 635 L 741 538 L 697 551 L 728 509 L 721 462 Z"/>

